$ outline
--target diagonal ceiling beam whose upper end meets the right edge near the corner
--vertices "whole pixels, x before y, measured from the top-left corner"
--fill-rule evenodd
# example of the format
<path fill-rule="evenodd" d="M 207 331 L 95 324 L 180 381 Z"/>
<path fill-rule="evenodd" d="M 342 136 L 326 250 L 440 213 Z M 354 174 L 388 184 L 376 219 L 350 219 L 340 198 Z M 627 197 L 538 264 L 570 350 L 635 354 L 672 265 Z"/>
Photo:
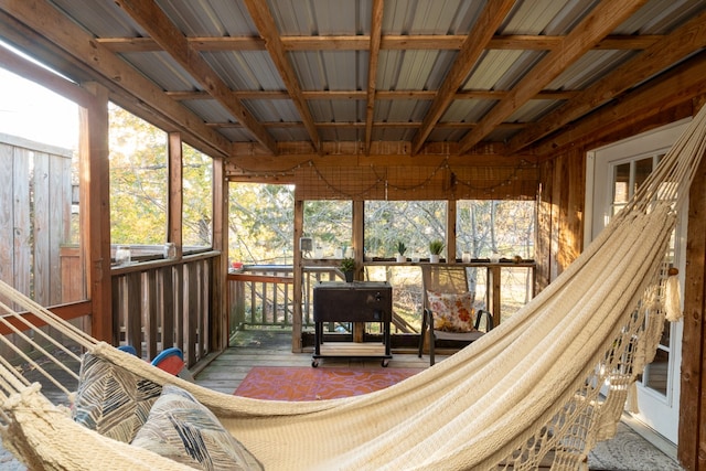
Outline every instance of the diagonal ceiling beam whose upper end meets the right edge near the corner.
<path fill-rule="evenodd" d="M 682 57 L 706 47 L 706 13 L 702 13 L 665 36 L 661 42 L 606 75 L 570 101 L 557 108 L 542 120 L 527 127 L 509 142 L 509 151 L 518 151 L 548 136 L 592 109 L 608 103 L 634 84 L 666 69 Z"/>

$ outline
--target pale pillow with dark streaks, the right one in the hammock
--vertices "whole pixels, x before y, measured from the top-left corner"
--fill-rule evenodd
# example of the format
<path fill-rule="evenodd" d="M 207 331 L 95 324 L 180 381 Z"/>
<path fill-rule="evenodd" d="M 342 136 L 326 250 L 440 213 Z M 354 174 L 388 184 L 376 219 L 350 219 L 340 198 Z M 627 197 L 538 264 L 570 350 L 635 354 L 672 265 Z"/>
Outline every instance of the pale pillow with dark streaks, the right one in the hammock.
<path fill-rule="evenodd" d="M 202 470 L 264 469 L 211 410 L 173 385 L 164 386 L 132 445 Z"/>

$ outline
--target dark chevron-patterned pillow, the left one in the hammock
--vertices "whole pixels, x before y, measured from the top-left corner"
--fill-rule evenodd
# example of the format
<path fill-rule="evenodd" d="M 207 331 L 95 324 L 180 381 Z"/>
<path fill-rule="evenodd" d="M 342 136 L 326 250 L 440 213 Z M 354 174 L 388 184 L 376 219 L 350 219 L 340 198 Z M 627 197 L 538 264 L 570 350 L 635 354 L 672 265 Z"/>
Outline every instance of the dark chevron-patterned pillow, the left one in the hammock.
<path fill-rule="evenodd" d="M 114 440 L 129 443 L 147 421 L 162 387 L 99 356 L 82 360 L 74 420 Z"/>

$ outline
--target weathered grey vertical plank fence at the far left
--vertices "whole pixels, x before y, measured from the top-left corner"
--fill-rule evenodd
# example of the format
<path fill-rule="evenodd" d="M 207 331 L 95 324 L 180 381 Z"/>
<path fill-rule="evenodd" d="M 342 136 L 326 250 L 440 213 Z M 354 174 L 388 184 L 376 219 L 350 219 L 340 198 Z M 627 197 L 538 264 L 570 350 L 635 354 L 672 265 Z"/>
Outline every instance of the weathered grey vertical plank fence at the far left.
<path fill-rule="evenodd" d="M 62 297 L 69 242 L 72 153 L 0 136 L 0 279 L 43 306 Z"/>

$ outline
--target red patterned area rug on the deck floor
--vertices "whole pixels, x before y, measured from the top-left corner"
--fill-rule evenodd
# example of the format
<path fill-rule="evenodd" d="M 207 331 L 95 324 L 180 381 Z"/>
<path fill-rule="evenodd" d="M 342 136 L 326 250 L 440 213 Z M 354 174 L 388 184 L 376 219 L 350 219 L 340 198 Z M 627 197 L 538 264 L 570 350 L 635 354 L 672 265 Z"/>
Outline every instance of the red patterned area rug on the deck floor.
<path fill-rule="evenodd" d="M 335 399 L 383 389 L 420 371 L 255 366 L 234 394 L 272 400 Z"/>

